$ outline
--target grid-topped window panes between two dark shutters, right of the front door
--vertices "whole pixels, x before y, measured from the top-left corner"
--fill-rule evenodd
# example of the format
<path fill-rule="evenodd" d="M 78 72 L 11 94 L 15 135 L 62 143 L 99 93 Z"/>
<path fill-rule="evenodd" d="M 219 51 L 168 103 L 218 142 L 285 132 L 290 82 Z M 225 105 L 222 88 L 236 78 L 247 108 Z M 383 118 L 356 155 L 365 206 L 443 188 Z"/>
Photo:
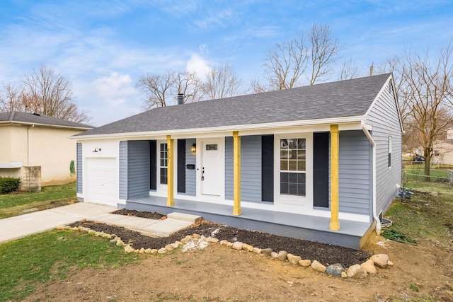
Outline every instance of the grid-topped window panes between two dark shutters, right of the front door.
<path fill-rule="evenodd" d="M 306 196 L 306 139 L 280 139 L 280 194 Z"/>

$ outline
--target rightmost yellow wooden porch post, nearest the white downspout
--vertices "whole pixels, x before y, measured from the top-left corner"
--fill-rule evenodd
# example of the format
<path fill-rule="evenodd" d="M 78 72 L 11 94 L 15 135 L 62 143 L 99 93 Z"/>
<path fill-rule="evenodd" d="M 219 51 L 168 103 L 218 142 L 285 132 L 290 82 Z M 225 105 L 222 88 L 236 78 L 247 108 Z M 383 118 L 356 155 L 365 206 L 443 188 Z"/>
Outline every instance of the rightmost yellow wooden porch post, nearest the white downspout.
<path fill-rule="evenodd" d="M 340 132 L 338 124 L 331 124 L 331 230 L 340 230 L 338 220 L 338 153 Z"/>

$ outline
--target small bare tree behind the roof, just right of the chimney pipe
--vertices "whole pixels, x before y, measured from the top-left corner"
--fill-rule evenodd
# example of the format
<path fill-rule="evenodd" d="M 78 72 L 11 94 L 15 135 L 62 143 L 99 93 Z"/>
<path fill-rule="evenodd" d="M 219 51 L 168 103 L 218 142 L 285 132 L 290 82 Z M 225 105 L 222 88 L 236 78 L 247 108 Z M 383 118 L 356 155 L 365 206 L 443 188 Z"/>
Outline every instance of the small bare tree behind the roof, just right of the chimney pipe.
<path fill-rule="evenodd" d="M 229 98 L 237 95 L 240 87 L 241 80 L 234 69 L 229 64 L 224 64 L 210 69 L 203 83 L 203 92 L 209 99 Z"/>

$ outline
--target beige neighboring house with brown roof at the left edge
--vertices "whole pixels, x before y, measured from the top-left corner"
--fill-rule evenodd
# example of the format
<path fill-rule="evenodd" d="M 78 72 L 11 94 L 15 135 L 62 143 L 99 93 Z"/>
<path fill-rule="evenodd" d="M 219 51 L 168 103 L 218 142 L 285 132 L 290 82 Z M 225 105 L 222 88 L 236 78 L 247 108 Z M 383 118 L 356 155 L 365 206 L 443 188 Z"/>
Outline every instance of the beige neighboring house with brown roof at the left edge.
<path fill-rule="evenodd" d="M 69 167 L 76 143 L 68 137 L 93 127 L 25 112 L 0 112 L 0 176 L 21 178 L 21 190 L 76 180 Z"/>

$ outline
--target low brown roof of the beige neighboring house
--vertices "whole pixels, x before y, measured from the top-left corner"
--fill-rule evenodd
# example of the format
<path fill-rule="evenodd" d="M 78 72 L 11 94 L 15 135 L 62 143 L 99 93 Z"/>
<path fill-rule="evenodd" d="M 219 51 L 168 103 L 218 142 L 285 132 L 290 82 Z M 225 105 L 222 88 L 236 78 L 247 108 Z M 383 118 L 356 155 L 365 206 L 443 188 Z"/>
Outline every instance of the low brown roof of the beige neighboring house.
<path fill-rule="evenodd" d="M 93 127 L 79 122 L 71 122 L 68 120 L 62 120 L 57 117 L 50 117 L 47 115 L 40 115 L 38 113 L 29 112 L 0 112 L 0 124 L 12 123 L 12 124 L 35 124 L 43 125 L 48 127 L 63 127 L 63 128 L 74 128 L 74 129 L 93 129 Z"/>

